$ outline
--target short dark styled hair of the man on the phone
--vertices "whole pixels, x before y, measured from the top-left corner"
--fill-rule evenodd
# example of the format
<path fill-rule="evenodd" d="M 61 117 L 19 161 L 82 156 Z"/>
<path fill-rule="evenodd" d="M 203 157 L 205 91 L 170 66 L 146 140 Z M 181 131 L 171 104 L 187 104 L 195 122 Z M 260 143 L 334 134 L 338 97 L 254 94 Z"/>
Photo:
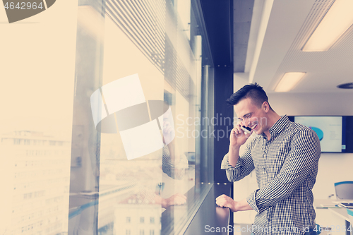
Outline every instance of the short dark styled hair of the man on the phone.
<path fill-rule="evenodd" d="M 251 98 L 251 102 L 259 108 L 261 108 L 263 102 L 268 102 L 268 97 L 265 90 L 263 90 L 258 83 L 251 83 L 244 85 L 244 87 L 240 88 L 237 92 L 231 95 L 227 100 L 227 103 L 235 105 L 246 98 Z M 270 103 L 268 103 L 268 105 L 270 106 Z M 271 106 L 270 109 L 273 110 Z"/>

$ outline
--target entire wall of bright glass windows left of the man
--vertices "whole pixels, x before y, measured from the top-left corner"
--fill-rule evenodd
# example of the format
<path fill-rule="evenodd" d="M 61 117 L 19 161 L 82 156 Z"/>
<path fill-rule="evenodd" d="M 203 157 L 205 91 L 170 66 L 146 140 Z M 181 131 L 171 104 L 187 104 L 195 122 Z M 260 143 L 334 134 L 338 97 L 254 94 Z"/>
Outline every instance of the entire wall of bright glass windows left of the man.
<path fill-rule="evenodd" d="M 199 1 L 79 0 L 77 17 L 77 33 L 35 44 L 73 58 L 76 41 L 75 66 L 40 56 L 38 76 L 8 72 L 22 85 L 6 80 L 2 100 L 26 98 L 1 117 L 0 234 L 179 234 L 213 183 Z"/>

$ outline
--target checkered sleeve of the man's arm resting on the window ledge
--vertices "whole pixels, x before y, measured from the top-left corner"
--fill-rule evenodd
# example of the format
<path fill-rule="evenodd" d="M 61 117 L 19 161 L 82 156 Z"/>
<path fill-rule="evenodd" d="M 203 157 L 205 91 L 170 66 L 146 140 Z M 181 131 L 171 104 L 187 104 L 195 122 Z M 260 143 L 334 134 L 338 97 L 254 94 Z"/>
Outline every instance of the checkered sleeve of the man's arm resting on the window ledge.
<path fill-rule="evenodd" d="M 261 213 L 289 195 L 311 174 L 321 155 L 320 140 L 314 131 L 303 128 L 296 133 L 290 144 L 289 155 L 280 173 L 263 188 L 251 193 L 247 203 Z"/>

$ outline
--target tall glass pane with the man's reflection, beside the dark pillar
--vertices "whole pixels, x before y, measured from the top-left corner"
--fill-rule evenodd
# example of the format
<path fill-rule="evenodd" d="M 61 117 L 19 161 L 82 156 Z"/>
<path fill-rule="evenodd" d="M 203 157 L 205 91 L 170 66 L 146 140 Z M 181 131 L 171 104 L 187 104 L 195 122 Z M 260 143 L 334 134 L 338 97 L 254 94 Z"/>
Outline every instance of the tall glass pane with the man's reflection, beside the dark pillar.
<path fill-rule="evenodd" d="M 213 183 L 198 1 L 79 1 L 68 234 L 179 234 Z"/>

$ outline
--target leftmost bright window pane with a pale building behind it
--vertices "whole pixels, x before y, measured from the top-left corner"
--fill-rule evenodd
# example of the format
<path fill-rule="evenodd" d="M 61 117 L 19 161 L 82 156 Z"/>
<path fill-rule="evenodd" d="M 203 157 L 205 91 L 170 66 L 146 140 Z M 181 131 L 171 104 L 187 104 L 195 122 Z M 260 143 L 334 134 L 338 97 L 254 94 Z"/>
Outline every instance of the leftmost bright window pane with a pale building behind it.
<path fill-rule="evenodd" d="M 0 234 L 67 234 L 77 7 L 1 9 Z"/>

